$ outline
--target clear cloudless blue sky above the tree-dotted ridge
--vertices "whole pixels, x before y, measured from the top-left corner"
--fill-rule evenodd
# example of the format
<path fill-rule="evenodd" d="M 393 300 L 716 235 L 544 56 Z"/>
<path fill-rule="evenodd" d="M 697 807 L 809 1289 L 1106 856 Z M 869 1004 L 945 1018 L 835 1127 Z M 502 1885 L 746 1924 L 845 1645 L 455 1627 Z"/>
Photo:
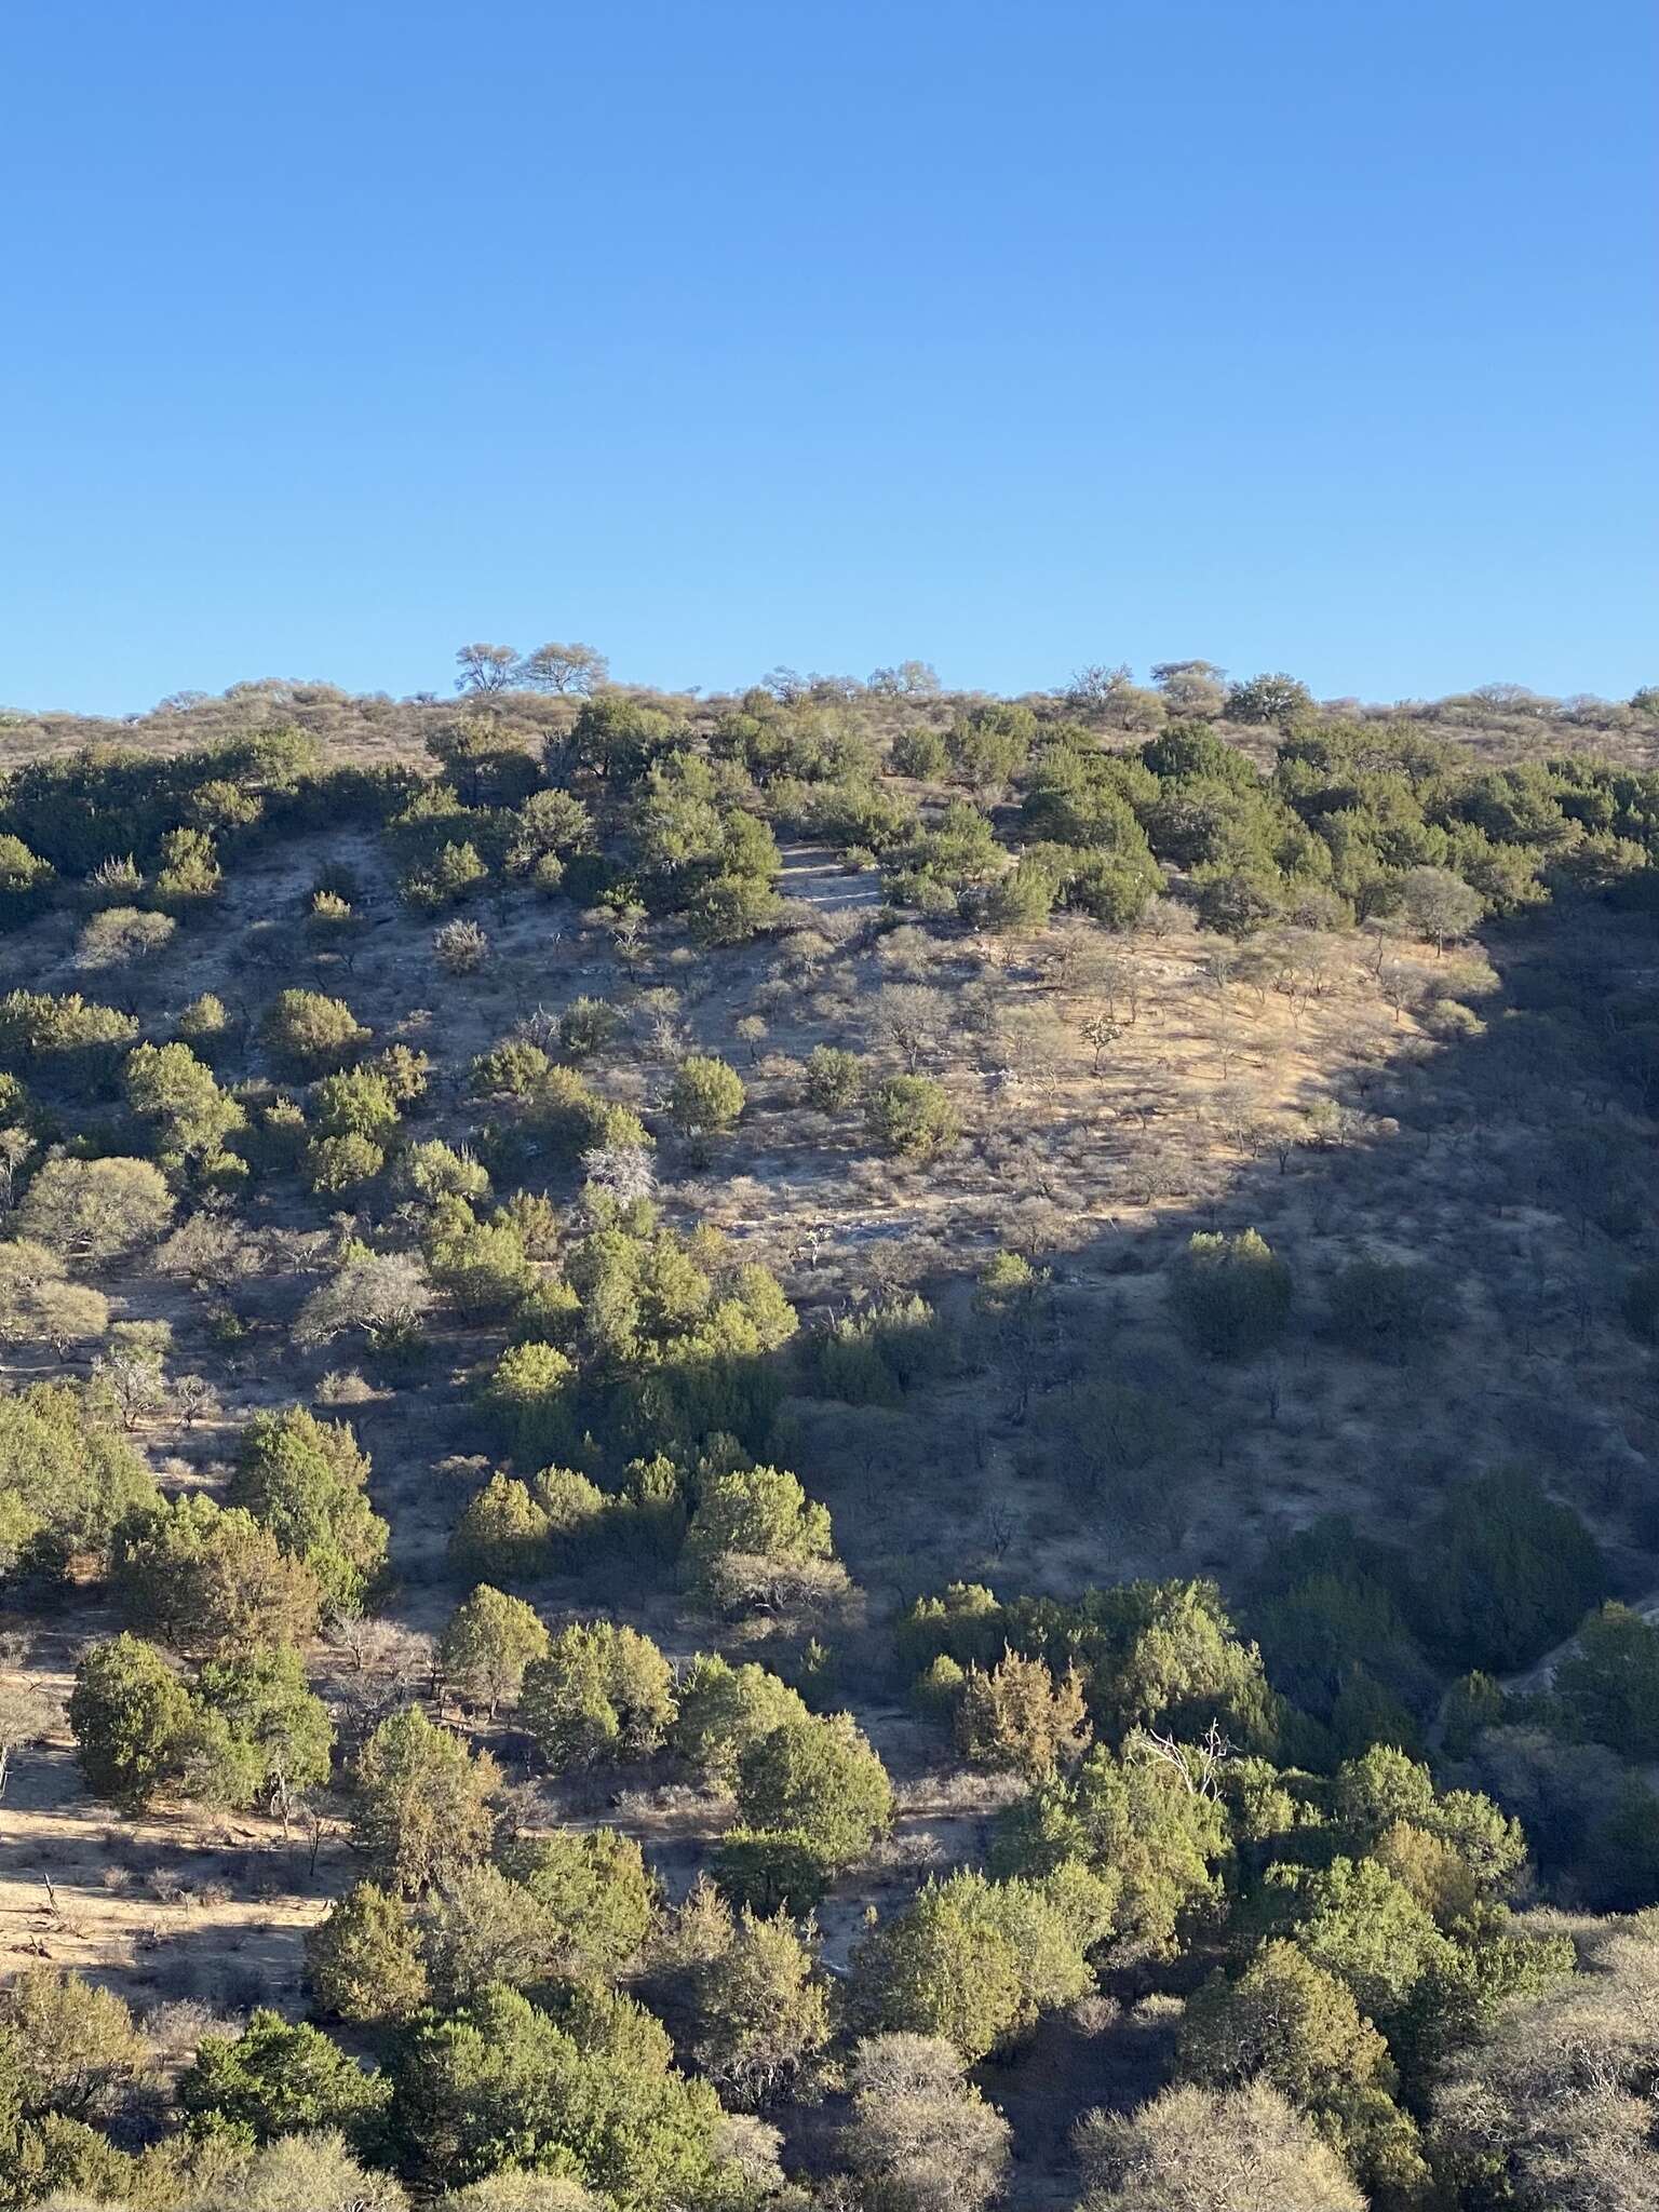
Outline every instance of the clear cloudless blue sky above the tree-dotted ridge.
<path fill-rule="evenodd" d="M 1659 679 L 1652 0 L 11 0 L 0 699 Z"/>

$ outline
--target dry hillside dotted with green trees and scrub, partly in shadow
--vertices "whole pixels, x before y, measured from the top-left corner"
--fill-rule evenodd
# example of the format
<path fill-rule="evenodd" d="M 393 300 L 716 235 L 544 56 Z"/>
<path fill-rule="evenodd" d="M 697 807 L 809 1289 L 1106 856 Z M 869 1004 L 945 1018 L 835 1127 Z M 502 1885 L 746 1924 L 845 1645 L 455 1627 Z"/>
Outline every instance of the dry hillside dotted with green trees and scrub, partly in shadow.
<path fill-rule="evenodd" d="M 491 650 L 0 717 L 0 2205 L 1652 2201 L 1659 695 Z"/>

